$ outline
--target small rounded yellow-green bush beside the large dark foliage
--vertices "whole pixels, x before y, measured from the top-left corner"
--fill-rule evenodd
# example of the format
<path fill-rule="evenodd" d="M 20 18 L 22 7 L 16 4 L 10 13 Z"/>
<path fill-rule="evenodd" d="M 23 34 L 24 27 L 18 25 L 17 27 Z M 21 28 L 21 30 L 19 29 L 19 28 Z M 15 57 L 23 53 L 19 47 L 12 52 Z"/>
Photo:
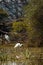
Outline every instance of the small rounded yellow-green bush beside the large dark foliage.
<path fill-rule="evenodd" d="M 27 32 L 27 24 L 25 22 L 15 22 L 13 23 L 13 28 L 13 31 L 17 33 Z"/>

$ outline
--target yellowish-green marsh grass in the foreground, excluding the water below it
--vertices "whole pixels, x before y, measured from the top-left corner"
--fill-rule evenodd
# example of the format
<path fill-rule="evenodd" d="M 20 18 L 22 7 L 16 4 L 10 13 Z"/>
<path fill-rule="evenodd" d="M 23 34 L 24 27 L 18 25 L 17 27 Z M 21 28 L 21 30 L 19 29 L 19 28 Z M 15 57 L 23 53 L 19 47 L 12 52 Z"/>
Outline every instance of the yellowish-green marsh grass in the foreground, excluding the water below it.
<path fill-rule="evenodd" d="M 43 48 L 17 48 L 14 49 L 14 45 L 9 46 L 9 45 L 0 45 L 0 60 L 19 60 L 16 58 L 17 56 L 21 56 L 21 60 L 26 60 L 26 59 L 30 59 L 33 55 L 35 55 L 35 57 L 39 57 L 40 53 L 41 53 L 41 49 Z M 34 57 L 34 58 L 35 58 Z M 36 58 L 37 59 L 37 58 Z"/>

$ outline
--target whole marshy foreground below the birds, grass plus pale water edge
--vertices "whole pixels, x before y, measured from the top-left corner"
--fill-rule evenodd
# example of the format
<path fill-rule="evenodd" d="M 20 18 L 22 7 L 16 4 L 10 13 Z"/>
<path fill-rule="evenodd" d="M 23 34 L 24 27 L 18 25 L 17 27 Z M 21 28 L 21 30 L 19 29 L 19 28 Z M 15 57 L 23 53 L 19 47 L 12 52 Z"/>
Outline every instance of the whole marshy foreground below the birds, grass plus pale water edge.
<path fill-rule="evenodd" d="M 14 49 L 14 44 L 0 45 L 1 65 L 42 65 L 43 48 L 21 47 Z"/>

